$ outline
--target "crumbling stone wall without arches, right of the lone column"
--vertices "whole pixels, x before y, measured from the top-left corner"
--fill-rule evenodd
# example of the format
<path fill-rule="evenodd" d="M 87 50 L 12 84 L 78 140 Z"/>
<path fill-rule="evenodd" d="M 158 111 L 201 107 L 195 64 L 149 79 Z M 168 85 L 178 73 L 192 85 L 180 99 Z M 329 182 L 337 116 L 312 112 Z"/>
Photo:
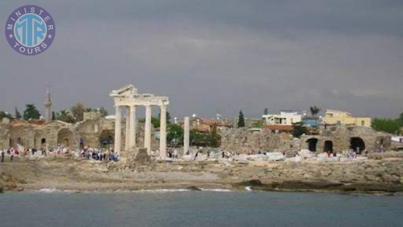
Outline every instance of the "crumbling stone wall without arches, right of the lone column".
<path fill-rule="evenodd" d="M 282 140 L 280 134 L 272 132 L 251 132 L 246 129 L 227 129 L 221 135 L 221 150 L 238 151 L 276 151 L 290 149 L 292 140 Z"/>

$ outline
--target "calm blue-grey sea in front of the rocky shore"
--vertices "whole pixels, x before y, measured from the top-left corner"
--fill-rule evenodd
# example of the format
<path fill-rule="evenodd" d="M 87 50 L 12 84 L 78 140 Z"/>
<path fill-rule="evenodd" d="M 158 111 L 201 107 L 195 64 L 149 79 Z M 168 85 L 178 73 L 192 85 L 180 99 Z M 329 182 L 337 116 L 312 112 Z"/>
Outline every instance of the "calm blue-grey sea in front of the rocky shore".
<path fill-rule="evenodd" d="M 261 191 L 0 194 L 0 226 L 403 226 L 403 196 Z"/>

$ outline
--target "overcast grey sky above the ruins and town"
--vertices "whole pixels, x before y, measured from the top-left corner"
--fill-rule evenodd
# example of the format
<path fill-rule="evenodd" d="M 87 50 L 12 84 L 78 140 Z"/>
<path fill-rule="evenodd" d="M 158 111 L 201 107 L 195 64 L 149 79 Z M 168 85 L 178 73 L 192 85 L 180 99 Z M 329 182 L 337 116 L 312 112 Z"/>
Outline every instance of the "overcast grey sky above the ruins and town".
<path fill-rule="evenodd" d="M 403 112 L 401 0 L 0 0 L 0 19 L 25 5 L 49 12 L 56 35 L 35 56 L 0 41 L 0 109 L 11 113 L 44 113 L 48 86 L 53 111 L 82 102 L 113 114 L 109 92 L 128 83 L 169 96 L 178 118 Z"/>

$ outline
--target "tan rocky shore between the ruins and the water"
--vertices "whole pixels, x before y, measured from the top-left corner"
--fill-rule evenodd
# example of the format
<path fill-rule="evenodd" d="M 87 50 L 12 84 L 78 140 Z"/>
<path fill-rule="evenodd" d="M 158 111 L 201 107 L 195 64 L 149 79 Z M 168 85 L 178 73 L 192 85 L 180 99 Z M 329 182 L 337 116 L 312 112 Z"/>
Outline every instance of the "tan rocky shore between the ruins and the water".
<path fill-rule="evenodd" d="M 154 161 L 147 165 L 72 157 L 18 159 L 0 164 L 0 191 L 229 189 L 267 191 L 403 192 L 403 159 L 315 161 Z M 3 185 L 3 187 L 2 187 Z"/>

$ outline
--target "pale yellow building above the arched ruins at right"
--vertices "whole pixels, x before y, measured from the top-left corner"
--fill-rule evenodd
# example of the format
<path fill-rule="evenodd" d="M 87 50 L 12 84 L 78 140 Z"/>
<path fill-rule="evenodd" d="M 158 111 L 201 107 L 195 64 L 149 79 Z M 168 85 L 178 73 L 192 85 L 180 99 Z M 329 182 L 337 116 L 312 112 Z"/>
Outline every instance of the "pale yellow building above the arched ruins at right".
<path fill-rule="evenodd" d="M 371 127 L 370 117 L 353 117 L 349 112 L 342 110 L 326 109 L 325 115 L 322 118 L 324 126 L 363 126 Z"/>

